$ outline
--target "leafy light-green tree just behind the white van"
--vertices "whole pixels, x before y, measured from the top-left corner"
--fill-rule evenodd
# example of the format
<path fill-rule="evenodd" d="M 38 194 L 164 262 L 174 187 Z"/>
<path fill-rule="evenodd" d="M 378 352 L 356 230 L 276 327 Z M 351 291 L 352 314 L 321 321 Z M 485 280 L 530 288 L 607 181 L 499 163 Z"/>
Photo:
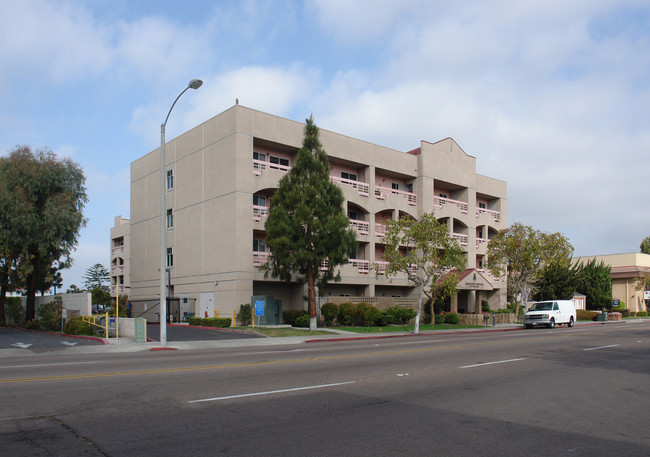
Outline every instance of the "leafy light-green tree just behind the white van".
<path fill-rule="evenodd" d="M 546 233 L 520 223 L 500 230 L 488 243 L 488 268 L 507 275 L 515 294 L 515 315 L 528 303 L 544 268 L 571 257 L 573 246 L 559 233 Z"/>

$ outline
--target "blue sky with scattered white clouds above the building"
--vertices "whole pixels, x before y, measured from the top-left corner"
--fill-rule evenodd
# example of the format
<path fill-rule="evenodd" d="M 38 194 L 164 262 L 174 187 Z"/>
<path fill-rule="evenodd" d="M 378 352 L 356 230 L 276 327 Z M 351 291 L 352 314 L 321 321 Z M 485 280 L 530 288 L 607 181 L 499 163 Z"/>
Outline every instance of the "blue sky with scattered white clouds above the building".
<path fill-rule="evenodd" d="M 109 266 L 130 162 L 234 104 L 401 151 L 454 138 L 508 224 L 576 255 L 650 235 L 646 0 L 21 0 L 0 15 L 0 154 L 49 147 L 90 198 L 64 290 Z"/>

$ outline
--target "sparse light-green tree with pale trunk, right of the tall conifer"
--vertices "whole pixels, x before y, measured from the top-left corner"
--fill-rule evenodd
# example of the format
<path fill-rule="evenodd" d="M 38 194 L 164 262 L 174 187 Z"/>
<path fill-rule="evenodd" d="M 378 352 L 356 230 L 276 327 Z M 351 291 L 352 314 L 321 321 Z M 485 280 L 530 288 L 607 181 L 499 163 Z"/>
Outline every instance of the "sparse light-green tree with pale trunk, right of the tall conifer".
<path fill-rule="evenodd" d="M 384 241 L 384 260 L 388 262 L 386 276 L 405 273 L 418 289 L 413 329 L 417 334 L 422 299 L 425 295 L 431 297 L 427 288 L 440 280 L 433 292 L 440 294 L 444 291 L 444 294 L 453 296 L 457 275 L 448 272 L 464 271 L 465 255 L 458 242 L 449 236 L 447 225 L 438 222 L 433 213 L 425 213 L 419 220 L 402 216 L 398 221 L 388 221 Z"/>

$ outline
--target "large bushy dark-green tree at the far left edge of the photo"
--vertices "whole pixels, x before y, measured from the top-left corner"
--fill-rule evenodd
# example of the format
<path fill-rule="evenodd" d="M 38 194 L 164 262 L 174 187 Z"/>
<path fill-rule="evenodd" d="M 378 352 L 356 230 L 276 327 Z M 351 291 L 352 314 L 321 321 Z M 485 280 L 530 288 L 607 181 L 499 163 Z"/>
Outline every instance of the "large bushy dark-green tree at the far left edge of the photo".
<path fill-rule="evenodd" d="M 17 146 L 0 158 L 0 183 L 0 252 L 17 261 L 27 291 L 25 319 L 32 320 L 39 282 L 55 262 L 70 264 L 85 225 L 85 177 L 70 159 Z"/>

